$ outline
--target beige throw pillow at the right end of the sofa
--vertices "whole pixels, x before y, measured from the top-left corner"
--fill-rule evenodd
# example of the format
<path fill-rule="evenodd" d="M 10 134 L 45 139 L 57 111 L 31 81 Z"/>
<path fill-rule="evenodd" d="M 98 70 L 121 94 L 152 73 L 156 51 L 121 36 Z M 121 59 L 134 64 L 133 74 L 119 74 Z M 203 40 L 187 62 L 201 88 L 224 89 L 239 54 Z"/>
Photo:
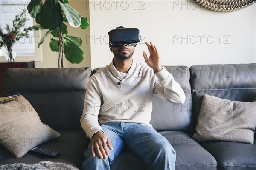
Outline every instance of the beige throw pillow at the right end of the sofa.
<path fill-rule="evenodd" d="M 205 94 L 193 138 L 253 144 L 255 126 L 256 102 L 231 102 Z"/>

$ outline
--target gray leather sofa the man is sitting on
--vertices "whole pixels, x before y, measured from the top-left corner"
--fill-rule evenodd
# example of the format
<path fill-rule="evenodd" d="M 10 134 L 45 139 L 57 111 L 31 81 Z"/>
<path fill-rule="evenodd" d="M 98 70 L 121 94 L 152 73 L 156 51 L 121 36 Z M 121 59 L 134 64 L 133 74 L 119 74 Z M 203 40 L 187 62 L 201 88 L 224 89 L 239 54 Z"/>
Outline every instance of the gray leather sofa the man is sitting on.
<path fill-rule="evenodd" d="M 39 161 L 65 162 L 81 168 L 89 140 L 80 125 L 87 82 L 99 68 L 23 68 L 6 71 L 4 95 L 23 95 L 38 112 L 41 121 L 61 136 L 38 147 L 57 150 L 49 158 L 26 153 L 15 158 L 2 145 L 0 164 Z M 163 102 L 154 96 L 151 125 L 166 137 L 177 153 L 177 170 L 255 170 L 254 144 L 209 141 L 192 138 L 204 94 L 251 102 L 256 96 L 256 64 L 166 66 L 186 94 L 183 105 Z M 148 165 L 128 151 L 111 164 L 111 170 L 147 169 Z"/>

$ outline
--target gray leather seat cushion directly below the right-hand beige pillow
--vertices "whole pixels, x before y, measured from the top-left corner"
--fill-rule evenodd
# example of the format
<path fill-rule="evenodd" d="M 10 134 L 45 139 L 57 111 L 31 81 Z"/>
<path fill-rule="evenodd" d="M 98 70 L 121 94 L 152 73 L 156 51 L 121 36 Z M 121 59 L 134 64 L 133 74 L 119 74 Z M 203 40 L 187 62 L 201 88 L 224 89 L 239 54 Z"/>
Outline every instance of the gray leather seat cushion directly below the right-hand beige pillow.
<path fill-rule="evenodd" d="M 256 139 L 254 144 L 209 141 L 201 145 L 215 157 L 220 170 L 256 169 Z"/>

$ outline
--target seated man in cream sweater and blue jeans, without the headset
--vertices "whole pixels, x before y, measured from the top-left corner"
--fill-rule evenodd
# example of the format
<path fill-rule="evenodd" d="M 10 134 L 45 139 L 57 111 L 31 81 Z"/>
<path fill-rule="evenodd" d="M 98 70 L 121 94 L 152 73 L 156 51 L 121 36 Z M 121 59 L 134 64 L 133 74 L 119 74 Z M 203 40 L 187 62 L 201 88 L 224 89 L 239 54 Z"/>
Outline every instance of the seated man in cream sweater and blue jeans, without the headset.
<path fill-rule="evenodd" d="M 149 169 L 175 169 L 175 150 L 149 124 L 152 95 L 184 103 L 185 94 L 161 65 L 156 46 L 145 44 L 148 66 L 133 60 L 136 44 L 110 45 L 112 62 L 90 77 L 81 116 L 81 126 L 91 139 L 83 169 L 109 170 L 124 148 L 144 159 Z"/>

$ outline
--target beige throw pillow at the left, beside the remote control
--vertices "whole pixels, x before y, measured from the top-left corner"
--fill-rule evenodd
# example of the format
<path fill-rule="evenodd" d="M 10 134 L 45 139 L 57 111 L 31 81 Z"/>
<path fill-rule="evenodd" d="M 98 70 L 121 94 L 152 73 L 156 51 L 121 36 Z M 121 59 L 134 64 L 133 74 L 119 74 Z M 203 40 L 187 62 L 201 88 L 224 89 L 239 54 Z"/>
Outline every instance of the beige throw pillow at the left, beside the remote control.
<path fill-rule="evenodd" d="M 38 144 L 59 136 L 58 132 L 41 122 L 23 96 L 0 104 L 0 143 L 17 158 Z"/>

